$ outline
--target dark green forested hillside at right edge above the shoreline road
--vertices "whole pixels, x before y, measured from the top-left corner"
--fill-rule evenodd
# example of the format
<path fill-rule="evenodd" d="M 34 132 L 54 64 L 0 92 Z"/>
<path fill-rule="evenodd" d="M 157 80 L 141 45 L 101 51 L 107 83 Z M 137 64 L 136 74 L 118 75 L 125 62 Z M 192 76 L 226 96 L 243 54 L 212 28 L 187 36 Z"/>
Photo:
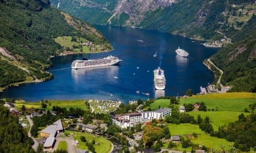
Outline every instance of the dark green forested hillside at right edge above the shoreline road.
<path fill-rule="evenodd" d="M 256 33 L 221 49 L 210 59 L 223 70 L 221 83 L 230 91 L 256 92 Z"/>

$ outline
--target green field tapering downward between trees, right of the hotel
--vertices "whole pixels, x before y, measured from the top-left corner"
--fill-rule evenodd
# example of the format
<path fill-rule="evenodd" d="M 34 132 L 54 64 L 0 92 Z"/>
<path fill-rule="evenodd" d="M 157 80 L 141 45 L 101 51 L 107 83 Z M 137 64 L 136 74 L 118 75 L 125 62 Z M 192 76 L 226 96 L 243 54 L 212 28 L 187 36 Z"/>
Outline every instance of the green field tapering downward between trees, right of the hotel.
<path fill-rule="evenodd" d="M 200 115 L 201 118 L 208 116 L 210 118 L 210 123 L 214 127 L 215 131 L 218 131 L 219 126 L 227 125 L 229 122 L 234 122 L 238 120 L 238 116 L 242 112 L 231 112 L 231 111 L 207 111 L 207 112 L 188 112 L 189 115 L 192 115 L 197 119 L 197 116 Z M 249 113 L 244 113 L 248 115 Z"/>

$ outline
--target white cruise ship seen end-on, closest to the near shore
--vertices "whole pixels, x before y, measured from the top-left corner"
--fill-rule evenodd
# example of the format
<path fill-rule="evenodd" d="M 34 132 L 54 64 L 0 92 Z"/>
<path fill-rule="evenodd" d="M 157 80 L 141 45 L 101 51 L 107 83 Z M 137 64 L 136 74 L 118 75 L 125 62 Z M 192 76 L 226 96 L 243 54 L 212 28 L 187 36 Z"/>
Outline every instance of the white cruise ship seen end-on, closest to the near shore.
<path fill-rule="evenodd" d="M 154 84 L 155 88 L 158 90 L 164 90 L 165 89 L 165 77 L 164 77 L 164 71 L 158 67 L 154 70 Z"/>

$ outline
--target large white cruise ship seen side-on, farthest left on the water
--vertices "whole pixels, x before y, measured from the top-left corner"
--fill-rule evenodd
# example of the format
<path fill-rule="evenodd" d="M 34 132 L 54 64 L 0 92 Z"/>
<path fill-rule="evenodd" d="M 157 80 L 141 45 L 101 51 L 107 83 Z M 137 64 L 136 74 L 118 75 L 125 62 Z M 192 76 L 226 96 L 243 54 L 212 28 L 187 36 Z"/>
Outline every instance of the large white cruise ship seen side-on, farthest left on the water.
<path fill-rule="evenodd" d="M 114 56 L 108 56 L 102 59 L 88 60 L 83 58 L 81 60 L 75 60 L 72 62 L 71 67 L 73 69 L 79 68 L 91 68 L 91 67 L 101 67 L 119 64 L 122 60 Z"/>

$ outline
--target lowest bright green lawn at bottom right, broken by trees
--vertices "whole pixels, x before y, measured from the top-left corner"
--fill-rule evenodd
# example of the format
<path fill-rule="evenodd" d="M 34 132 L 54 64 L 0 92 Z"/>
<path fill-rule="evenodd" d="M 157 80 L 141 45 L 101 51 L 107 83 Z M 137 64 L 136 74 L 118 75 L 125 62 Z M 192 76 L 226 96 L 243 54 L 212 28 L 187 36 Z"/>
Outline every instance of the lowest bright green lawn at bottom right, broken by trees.
<path fill-rule="evenodd" d="M 173 135 L 185 135 L 185 134 L 192 134 L 194 132 L 196 132 L 198 135 L 198 138 L 196 139 L 191 139 L 191 142 L 193 142 L 194 144 L 199 144 L 199 145 L 205 145 L 208 148 L 213 148 L 215 145 L 217 146 L 217 149 L 221 149 L 220 148 L 220 144 L 224 144 L 226 146 L 226 149 L 228 149 L 228 144 L 230 144 L 231 142 L 228 142 L 225 139 L 220 139 L 217 137 L 211 137 L 209 135 L 206 135 L 203 131 L 201 131 L 201 129 L 199 129 L 198 125 L 194 125 L 194 124 L 188 124 L 188 123 L 184 123 L 184 124 L 168 124 L 169 130 L 170 130 L 170 134 Z M 168 143 L 167 143 L 168 144 Z M 167 146 L 167 144 L 165 144 L 165 147 Z M 181 144 L 177 147 L 179 150 L 187 150 L 190 151 L 191 147 L 188 148 L 182 148 Z"/>

